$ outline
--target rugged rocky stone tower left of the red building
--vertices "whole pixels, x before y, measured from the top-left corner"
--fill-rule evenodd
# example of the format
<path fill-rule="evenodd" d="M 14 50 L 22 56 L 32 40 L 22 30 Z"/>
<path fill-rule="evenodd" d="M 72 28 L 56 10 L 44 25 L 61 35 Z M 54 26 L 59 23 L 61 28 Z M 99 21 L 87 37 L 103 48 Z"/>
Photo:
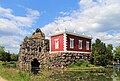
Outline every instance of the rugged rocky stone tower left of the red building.
<path fill-rule="evenodd" d="M 44 33 L 37 29 L 32 36 L 25 37 L 20 45 L 19 69 L 30 70 L 33 59 L 38 60 L 39 67 L 45 64 L 45 57 L 49 52 L 49 40 L 45 39 Z"/>

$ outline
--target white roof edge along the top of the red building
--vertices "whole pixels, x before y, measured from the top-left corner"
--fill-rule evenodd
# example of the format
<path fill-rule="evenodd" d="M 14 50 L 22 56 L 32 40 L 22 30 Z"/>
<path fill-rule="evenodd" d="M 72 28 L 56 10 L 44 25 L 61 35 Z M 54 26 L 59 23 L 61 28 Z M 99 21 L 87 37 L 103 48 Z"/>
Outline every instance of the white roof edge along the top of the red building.
<path fill-rule="evenodd" d="M 70 35 L 79 36 L 79 37 L 83 37 L 83 38 L 87 38 L 87 39 L 92 39 L 91 36 L 81 35 L 81 34 L 78 34 L 78 33 L 73 33 L 73 32 L 68 32 L 68 31 L 56 32 L 55 34 L 50 35 L 50 37 L 57 36 L 57 35 L 60 35 L 60 34 L 70 34 Z"/>

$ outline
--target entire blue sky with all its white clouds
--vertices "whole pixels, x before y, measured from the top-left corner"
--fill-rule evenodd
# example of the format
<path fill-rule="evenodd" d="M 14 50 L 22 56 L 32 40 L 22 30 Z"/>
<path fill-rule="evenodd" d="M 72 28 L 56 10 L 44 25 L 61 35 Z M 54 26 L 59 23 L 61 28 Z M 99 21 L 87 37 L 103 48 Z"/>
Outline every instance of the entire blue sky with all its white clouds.
<path fill-rule="evenodd" d="M 120 0 L 0 0 L 0 45 L 19 52 L 25 36 L 41 28 L 46 37 L 56 28 L 120 44 Z"/>

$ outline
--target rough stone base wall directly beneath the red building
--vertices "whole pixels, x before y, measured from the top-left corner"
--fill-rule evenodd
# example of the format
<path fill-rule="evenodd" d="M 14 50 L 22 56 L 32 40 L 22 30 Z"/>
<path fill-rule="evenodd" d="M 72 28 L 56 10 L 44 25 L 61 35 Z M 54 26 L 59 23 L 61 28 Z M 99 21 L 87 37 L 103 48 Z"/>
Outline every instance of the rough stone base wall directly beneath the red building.
<path fill-rule="evenodd" d="M 90 60 L 90 54 L 84 53 L 54 53 L 49 55 L 49 67 L 67 67 L 71 63 Z"/>

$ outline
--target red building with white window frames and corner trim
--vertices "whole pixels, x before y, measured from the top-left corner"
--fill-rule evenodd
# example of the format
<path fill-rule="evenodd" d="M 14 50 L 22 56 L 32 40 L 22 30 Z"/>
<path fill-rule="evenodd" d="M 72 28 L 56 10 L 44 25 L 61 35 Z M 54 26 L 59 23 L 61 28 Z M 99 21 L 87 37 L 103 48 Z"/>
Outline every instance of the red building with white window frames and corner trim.
<path fill-rule="evenodd" d="M 92 37 L 71 32 L 58 32 L 50 36 L 50 53 L 72 52 L 91 54 Z"/>

